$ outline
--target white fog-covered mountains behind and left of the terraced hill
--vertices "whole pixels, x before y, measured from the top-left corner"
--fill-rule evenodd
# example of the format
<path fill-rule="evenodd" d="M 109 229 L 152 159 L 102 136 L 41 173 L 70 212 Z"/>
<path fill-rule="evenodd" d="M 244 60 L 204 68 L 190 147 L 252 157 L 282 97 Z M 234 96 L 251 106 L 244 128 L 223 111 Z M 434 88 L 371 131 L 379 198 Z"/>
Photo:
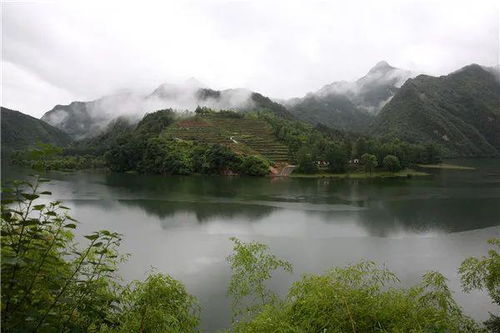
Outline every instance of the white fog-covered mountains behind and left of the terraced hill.
<path fill-rule="evenodd" d="M 245 89 L 215 91 L 191 78 L 182 84 L 164 83 L 147 95 L 124 91 L 94 101 L 56 105 L 41 119 L 81 139 L 95 135 L 118 117 L 136 122 L 147 112 L 167 108 L 194 111 L 198 106 L 216 110 L 249 109 L 254 106 L 251 97 L 252 92 Z"/>

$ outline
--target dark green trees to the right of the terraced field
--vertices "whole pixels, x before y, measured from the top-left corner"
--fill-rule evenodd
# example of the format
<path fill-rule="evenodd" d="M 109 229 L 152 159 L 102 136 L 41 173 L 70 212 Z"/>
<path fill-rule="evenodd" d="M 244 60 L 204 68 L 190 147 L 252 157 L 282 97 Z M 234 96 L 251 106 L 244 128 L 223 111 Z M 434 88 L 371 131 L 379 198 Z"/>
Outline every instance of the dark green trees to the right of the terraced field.
<path fill-rule="evenodd" d="M 377 166 L 398 171 L 416 164 L 441 161 L 440 149 L 432 143 L 412 144 L 397 138 L 382 139 L 341 133 L 324 126 L 315 128 L 267 112 L 258 112 L 256 116 L 268 121 L 275 135 L 288 145 L 292 162 L 297 164 L 299 172 L 317 172 L 318 161 L 326 162 L 328 171 L 332 173 L 348 171 L 353 160 L 359 160 L 364 169 L 371 171 Z M 365 154 L 372 155 L 375 159 L 363 159 Z M 369 162 L 369 165 L 364 165 L 364 162 Z"/>

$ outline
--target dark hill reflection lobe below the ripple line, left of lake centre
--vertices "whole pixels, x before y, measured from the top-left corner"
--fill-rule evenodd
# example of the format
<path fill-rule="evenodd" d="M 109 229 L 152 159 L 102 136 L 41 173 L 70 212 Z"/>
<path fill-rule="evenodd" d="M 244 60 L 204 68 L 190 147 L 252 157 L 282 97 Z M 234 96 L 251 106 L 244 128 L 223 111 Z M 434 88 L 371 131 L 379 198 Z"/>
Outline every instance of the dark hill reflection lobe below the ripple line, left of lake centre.
<path fill-rule="evenodd" d="M 276 208 L 260 205 L 218 202 L 171 202 L 162 200 L 120 200 L 127 207 L 137 207 L 146 214 L 160 219 L 178 214 L 193 214 L 200 223 L 213 219 L 247 219 L 258 221 L 270 215 Z"/>

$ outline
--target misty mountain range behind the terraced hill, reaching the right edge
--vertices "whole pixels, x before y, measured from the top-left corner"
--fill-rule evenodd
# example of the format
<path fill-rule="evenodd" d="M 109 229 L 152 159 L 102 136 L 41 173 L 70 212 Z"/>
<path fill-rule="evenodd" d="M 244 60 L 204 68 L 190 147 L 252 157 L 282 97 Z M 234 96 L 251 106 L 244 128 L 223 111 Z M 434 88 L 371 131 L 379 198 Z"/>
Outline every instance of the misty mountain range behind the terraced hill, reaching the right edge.
<path fill-rule="evenodd" d="M 190 79 L 179 85 L 162 84 L 146 95 L 122 92 L 89 102 L 56 105 L 41 119 L 80 140 L 102 133 L 118 117 L 136 123 L 145 113 L 158 109 L 266 109 L 281 117 L 356 135 L 434 142 L 446 156 L 498 156 L 499 78 L 498 66 L 469 65 L 433 77 L 381 61 L 356 81 L 333 82 L 280 103 L 246 89 L 212 90 Z M 2 120 L 2 130 L 3 126 Z"/>

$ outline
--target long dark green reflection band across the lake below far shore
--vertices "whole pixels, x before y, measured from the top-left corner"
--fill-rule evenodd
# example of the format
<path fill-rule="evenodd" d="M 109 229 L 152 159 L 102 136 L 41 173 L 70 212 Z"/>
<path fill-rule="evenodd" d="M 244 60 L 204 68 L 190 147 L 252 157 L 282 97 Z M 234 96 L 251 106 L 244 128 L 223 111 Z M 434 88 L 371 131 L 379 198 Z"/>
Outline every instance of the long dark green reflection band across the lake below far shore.
<path fill-rule="evenodd" d="M 431 179 L 273 180 L 101 174 L 92 175 L 92 181 L 87 182 L 88 177 L 80 175 L 72 179 L 71 184 L 82 192 L 88 183 L 89 193 L 105 190 L 104 197 L 127 199 L 120 201 L 120 205 L 138 207 L 160 219 L 185 214 L 175 219 L 179 223 L 186 223 L 186 219 L 198 223 L 216 218 L 258 221 L 278 208 L 250 203 L 281 202 L 289 204 L 286 207 L 294 207 L 294 203 L 364 207 L 362 211 L 306 211 L 324 217 L 327 223 L 356 223 L 370 235 L 380 237 L 404 232 L 459 232 L 500 224 L 500 200 L 492 185 L 477 190 L 477 187 L 462 186 L 462 183 L 452 183 L 455 187 L 436 185 Z M 102 186 L 95 187 L 96 183 Z M 475 194 L 485 198 L 474 197 Z M 113 200 L 107 204 L 111 202 L 117 204 Z M 246 202 L 249 204 L 242 204 Z M 307 209 L 306 206 L 297 207 Z"/>

